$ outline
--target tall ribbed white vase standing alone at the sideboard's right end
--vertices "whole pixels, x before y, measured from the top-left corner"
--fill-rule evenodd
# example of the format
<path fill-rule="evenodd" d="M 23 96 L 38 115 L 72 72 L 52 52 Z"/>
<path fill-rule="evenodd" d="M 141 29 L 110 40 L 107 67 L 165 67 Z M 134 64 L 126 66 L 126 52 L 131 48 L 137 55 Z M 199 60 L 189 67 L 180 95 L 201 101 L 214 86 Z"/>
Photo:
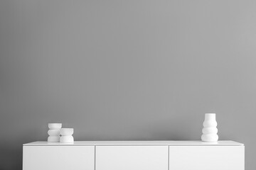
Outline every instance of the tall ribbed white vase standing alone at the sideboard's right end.
<path fill-rule="evenodd" d="M 217 142 L 218 141 L 218 129 L 215 113 L 206 113 L 205 120 L 203 122 L 203 135 L 201 140 L 203 142 Z"/>

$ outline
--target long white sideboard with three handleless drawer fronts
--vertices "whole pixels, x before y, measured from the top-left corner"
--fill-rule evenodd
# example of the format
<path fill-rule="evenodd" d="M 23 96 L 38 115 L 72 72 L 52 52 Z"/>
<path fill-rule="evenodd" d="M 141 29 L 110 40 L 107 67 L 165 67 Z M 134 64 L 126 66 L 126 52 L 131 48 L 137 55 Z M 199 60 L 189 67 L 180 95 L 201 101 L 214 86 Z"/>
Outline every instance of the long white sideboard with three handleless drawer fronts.
<path fill-rule="evenodd" d="M 23 170 L 244 170 L 233 141 L 76 141 L 23 145 Z"/>

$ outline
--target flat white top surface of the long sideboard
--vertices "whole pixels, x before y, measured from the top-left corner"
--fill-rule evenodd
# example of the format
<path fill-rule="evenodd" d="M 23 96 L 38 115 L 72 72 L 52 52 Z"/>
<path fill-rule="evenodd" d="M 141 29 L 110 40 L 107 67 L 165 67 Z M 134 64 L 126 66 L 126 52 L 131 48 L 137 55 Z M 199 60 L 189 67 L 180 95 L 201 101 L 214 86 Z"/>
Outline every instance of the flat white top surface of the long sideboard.
<path fill-rule="evenodd" d="M 170 145 L 170 146 L 242 146 L 242 143 L 231 140 L 220 140 L 218 142 L 202 142 L 200 140 L 127 140 L 127 141 L 75 141 L 73 143 L 37 141 L 23 146 L 100 146 L 100 145 Z"/>

